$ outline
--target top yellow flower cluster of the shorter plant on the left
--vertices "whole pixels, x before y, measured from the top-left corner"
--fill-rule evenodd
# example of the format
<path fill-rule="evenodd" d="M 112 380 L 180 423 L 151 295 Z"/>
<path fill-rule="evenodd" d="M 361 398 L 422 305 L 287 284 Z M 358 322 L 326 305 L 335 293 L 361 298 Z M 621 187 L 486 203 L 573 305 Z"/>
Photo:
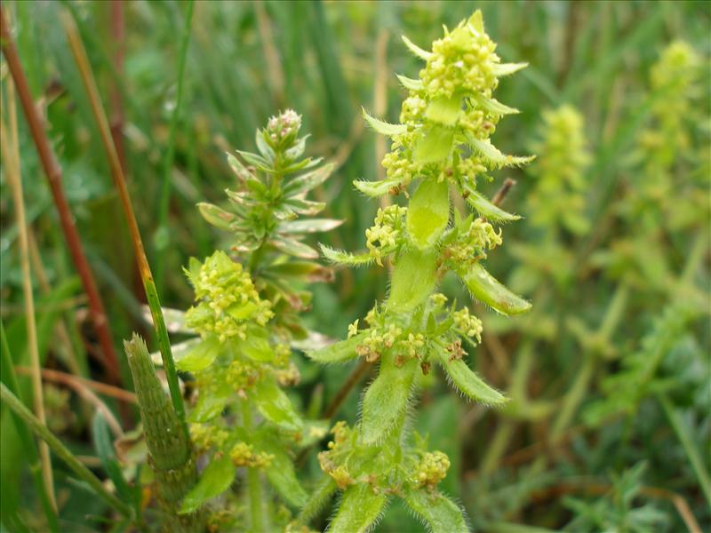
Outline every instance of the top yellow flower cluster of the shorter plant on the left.
<path fill-rule="evenodd" d="M 201 335 L 246 338 L 248 322 L 267 324 L 274 316 L 268 300 L 260 299 L 242 265 L 216 251 L 197 271 L 188 272 L 196 291 L 196 306 L 188 309 L 186 324 Z"/>

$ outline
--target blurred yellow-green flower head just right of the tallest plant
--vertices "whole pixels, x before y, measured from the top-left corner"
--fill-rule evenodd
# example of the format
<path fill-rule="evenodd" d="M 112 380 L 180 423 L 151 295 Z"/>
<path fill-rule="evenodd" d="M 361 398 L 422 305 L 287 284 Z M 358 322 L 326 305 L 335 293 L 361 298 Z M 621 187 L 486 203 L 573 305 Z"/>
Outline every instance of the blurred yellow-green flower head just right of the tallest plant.
<path fill-rule="evenodd" d="M 573 233 L 587 230 L 585 171 L 590 154 L 585 123 L 575 107 L 563 105 L 543 113 L 539 159 L 531 168 L 538 183 L 531 195 L 531 220 L 539 227 L 562 225 Z"/>

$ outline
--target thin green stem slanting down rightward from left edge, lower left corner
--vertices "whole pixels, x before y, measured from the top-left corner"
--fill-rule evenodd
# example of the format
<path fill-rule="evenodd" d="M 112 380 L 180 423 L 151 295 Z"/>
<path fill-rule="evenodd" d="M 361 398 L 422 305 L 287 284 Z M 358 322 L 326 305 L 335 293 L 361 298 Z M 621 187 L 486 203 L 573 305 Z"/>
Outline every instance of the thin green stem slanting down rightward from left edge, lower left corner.
<path fill-rule="evenodd" d="M 84 466 L 69 449 L 55 437 L 52 432 L 44 426 L 35 415 L 33 415 L 25 405 L 20 402 L 15 394 L 12 394 L 10 389 L 4 383 L 0 384 L 0 400 L 7 405 L 12 412 L 21 418 L 40 439 L 46 442 L 50 449 L 64 461 L 68 467 L 76 473 L 76 476 L 89 485 L 97 495 L 99 495 L 108 505 L 111 505 L 126 517 L 132 518 L 133 513 L 129 505 L 124 504 L 116 496 L 108 492 L 104 488 L 103 483 L 97 478 L 91 470 Z"/>

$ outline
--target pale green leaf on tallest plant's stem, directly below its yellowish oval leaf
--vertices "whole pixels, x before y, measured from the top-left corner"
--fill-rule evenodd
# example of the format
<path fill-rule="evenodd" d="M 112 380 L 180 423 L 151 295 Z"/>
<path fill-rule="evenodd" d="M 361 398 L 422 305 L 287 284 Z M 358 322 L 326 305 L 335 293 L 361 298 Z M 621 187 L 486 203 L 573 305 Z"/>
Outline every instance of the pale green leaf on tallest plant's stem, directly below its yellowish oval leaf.
<path fill-rule="evenodd" d="M 400 254 L 393 270 L 387 306 L 396 311 L 410 311 L 419 306 L 435 289 L 437 254 L 410 250 Z"/>

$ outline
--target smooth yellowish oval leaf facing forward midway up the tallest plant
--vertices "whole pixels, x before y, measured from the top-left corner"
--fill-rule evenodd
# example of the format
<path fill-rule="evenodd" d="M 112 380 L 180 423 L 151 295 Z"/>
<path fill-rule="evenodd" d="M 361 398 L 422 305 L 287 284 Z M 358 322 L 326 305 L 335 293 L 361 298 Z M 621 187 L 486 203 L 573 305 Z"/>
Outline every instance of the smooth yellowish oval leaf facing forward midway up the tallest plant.
<path fill-rule="evenodd" d="M 435 246 L 450 221 L 448 182 L 423 179 L 411 197 L 405 220 L 407 232 L 420 250 Z"/>

